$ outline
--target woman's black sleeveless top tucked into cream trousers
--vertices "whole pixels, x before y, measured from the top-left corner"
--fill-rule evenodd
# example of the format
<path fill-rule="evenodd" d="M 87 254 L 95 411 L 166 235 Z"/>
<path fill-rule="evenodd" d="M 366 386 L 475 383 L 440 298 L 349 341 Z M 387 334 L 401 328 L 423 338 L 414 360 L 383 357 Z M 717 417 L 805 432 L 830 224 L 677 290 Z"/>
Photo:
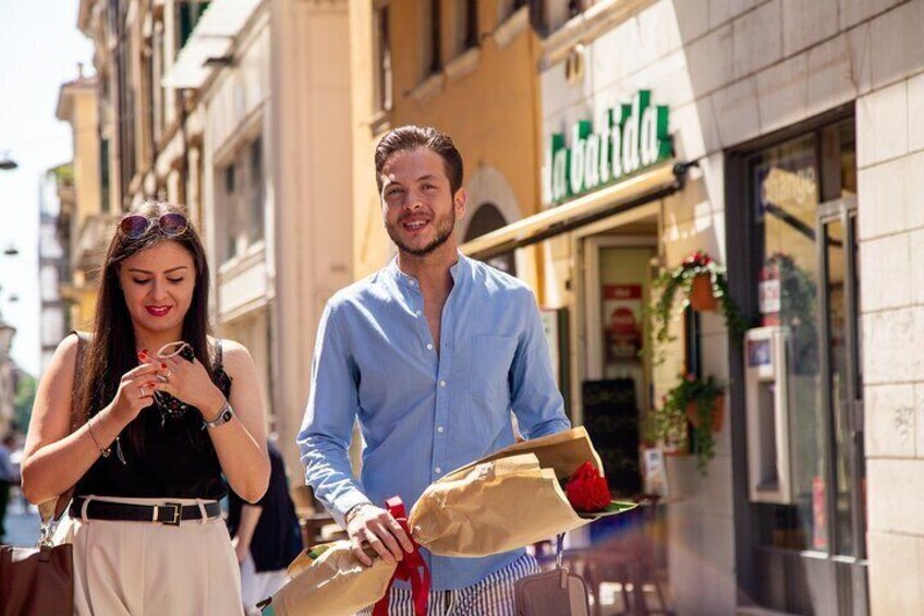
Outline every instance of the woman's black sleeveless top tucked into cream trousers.
<path fill-rule="evenodd" d="M 216 385 L 231 396 L 231 377 L 224 372 L 221 341 L 216 341 Z M 112 454 L 99 457 L 77 482 L 78 496 L 125 498 L 203 498 L 219 500 L 228 493 L 218 454 L 199 411 L 190 407 L 180 418 L 165 416 L 157 404 L 143 409 L 143 444 L 136 447 L 122 432 L 111 445 Z M 131 424 L 130 424 L 131 425 Z"/>

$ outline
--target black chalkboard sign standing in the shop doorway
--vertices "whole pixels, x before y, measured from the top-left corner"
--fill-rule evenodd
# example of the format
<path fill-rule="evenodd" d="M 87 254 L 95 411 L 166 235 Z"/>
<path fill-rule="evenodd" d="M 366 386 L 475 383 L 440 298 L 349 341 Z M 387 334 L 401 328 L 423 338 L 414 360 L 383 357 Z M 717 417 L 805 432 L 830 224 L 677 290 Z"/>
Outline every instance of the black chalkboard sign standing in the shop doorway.
<path fill-rule="evenodd" d="M 585 381 L 581 386 L 581 402 L 584 427 L 600 455 L 613 496 L 641 494 L 634 379 Z"/>

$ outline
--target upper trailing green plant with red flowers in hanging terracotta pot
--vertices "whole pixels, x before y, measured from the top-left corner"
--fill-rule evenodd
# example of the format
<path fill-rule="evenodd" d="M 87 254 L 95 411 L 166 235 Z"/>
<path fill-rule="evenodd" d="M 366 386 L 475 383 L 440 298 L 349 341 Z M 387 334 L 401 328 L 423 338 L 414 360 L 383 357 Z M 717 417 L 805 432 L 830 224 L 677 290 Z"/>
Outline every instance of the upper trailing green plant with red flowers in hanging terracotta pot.
<path fill-rule="evenodd" d="M 747 328 L 747 322 L 741 314 L 741 309 L 728 292 L 728 278 L 725 267 L 713 261 L 708 254 L 698 251 L 684 258 L 679 266 L 666 270 L 654 281 L 654 288 L 660 291 L 660 295 L 654 306 L 646 311 L 652 324 L 654 339 L 660 343 L 673 340 L 670 335 L 670 321 L 677 293 L 678 291 L 683 292 L 681 310 L 685 309 L 690 303 L 689 295 L 693 279 L 697 276 L 708 276 L 713 297 L 718 300 L 729 337 L 735 343 L 740 343 L 741 337 Z M 658 358 L 658 360 L 656 363 L 660 363 L 662 358 Z"/>

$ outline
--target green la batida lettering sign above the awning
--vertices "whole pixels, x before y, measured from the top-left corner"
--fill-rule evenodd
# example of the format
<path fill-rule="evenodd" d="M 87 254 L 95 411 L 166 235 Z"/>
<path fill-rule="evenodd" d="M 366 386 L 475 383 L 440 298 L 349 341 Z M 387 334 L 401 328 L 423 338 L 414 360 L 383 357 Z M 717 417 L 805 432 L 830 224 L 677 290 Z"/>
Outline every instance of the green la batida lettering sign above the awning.
<path fill-rule="evenodd" d="M 598 132 L 589 120 L 574 124 L 570 147 L 562 133 L 551 135 L 546 160 L 546 195 L 559 204 L 618 182 L 671 156 L 668 108 L 651 105 L 639 90 L 631 104 L 607 111 Z"/>

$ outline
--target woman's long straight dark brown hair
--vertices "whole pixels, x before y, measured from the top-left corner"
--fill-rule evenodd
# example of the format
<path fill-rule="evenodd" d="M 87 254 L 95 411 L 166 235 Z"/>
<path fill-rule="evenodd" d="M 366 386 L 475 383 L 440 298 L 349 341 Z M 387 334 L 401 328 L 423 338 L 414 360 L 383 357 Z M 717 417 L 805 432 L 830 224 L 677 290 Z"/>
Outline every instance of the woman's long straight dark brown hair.
<path fill-rule="evenodd" d="M 184 216 L 182 207 L 173 204 L 146 201 L 132 210 L 147 218 L 158 218 L 167 213 L 177 212 Z M 122 375 L 138 365 L 135 343 L 135 329 L 125 295 L 119 281 L 119 269 L 125 259 L 161 242 L 175 242 L 192 255 L 195 265 L 195 289 L 190 310 L 183 318 L 183 340 L 195 351 L 196 358 L 212 374 L 211 352 L 208 345 L 208 290 L 209 274 L 202 241 L 190 222 L 189 228 L 177 237 L 168 237 L 154 225 L 142 238 L 133 240 L 115 230 L 99 275 L 99 294 L 96 301 L 96 318 L 93 341 L 87 347 L 82 381 L 77 384 L 74 412 L 86 411 L 84 416 L 93 416 L 112 401 L 119 389 Z M 150 349 L 157 352 L 157 349 Z M 80 415 L 78 415 L 80 416 Z M 141 422 L 129 424 L 127 436 L 136 448 L 143 443 Z"/>

